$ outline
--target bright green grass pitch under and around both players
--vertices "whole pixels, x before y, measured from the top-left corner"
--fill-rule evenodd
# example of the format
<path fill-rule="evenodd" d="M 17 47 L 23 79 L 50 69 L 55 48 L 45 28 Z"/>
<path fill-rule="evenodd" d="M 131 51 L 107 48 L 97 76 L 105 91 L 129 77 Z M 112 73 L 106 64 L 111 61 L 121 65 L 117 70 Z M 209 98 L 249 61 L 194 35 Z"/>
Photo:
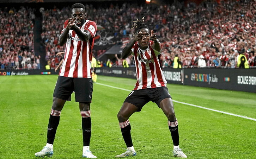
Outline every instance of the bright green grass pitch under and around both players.
<path fill-rule="evenodd" d="M 47 140 L 47 125 L 56 75 L 0 77 L 0 158 L 35 158 Z M 135 79 L 98 76 L 98 83 L 132 90 Z M 168 84 L 173 100 L 256 118 L 256 94 Z M 90 150 L 98 158 L 114 158 L 126 148 L 117 112 L 128 91 L 94 84 Z M 193 159 L 256 157 L 256 121 L 174 103 L 180 147 Z M 167 159 L 172 140 L 167 119 L 147 103 L 130 117 L 139 159 Z M 53 158 L 81 158 L 83 149 L 78 103 L 66 102 L 54 142 Z"/>

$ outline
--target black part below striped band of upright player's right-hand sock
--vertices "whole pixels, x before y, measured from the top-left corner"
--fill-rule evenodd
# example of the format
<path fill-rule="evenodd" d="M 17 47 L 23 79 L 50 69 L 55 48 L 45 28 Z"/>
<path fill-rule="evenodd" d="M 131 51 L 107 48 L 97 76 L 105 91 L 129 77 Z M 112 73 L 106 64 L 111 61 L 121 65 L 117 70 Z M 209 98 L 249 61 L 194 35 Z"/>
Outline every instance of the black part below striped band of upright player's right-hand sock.
<path fill-rule="evenodd" d="M 90 146 L 91 128 L 92 128 L 91 117 L 82 117 L 84 146 Z"/>

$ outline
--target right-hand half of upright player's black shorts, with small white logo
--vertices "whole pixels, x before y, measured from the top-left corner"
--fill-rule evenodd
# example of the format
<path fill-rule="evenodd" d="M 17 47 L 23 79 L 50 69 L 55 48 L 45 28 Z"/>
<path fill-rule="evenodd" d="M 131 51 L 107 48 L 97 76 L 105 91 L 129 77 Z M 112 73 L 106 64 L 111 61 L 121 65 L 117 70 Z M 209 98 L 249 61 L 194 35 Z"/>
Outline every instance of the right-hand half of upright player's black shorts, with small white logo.
<path fill-rule="evenodd" d="M 93 81 L 92 78 L 74 78 L 75 101 L 91 103 Z"/>

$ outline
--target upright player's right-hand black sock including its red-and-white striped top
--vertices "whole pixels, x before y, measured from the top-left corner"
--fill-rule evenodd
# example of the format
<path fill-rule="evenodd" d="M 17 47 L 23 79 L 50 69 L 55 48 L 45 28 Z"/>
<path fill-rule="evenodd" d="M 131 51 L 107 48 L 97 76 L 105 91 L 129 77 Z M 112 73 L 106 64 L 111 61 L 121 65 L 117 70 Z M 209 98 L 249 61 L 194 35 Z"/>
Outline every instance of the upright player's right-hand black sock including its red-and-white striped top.
<path fill-rule="evenodd" d="M 83 142 L 84 146 L 90 146 L 91 140 L 91 110 L 81 111 L 82 116 L 82 129 L 83 129 Z"/>

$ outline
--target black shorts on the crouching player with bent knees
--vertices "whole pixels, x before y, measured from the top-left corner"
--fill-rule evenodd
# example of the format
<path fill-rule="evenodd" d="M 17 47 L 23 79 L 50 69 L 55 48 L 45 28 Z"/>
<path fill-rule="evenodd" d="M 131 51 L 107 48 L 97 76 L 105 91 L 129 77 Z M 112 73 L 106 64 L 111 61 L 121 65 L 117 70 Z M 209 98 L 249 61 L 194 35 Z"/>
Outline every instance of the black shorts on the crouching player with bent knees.
<path fill-rule="evenodd" d="M 133 90 L 124 100 L 124 103 L 131 103 L 139 108 L 138 112 L 141 111 L 142 107 L 152 101 L 159 107 L 160 102 L 165 98 L 171 98 L 171 95 L 167 87 L 147 88 Z"/>

